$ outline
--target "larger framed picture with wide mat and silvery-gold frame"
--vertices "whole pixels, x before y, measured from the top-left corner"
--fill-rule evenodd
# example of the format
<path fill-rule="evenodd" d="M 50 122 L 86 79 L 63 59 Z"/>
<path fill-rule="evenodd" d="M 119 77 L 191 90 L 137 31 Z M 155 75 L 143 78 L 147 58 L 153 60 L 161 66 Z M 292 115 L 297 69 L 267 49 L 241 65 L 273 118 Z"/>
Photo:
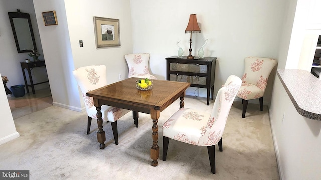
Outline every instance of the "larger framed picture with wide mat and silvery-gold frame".
<path fill-rule="evenodd" d="M 119 19 L 94 17 L 96 48 L 120 46 Z"/>

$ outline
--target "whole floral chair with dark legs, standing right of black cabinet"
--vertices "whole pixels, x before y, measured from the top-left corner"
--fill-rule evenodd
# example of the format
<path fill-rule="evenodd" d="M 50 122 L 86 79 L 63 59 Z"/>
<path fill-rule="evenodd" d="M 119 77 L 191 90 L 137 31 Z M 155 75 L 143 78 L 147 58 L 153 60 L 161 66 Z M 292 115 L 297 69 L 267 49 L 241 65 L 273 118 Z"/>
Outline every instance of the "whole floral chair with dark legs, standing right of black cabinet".
<path fill-rule="evenodd" d="M 237 93 L 237 97 L 242 99 L 243 112 L 245 117 L 247 104 L 251 99 L 259 99 L 260 110 L 263 111 L 263 95 L 267 84 L 267 79 L 276 65 L 276 60 L 263 57 L 246 57 L 245 69 L 242 76 L 242 86 Z"/>

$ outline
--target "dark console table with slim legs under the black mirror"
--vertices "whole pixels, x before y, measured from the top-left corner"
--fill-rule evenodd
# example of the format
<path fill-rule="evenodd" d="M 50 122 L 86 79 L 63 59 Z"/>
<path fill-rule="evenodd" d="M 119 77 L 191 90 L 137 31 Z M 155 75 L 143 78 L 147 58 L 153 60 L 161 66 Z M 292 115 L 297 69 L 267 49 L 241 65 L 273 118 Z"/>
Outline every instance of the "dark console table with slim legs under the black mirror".
<path fill-rule="evenodd" d="M 29 87 L 31 87 L 32 93 L 35 94 L 36 93 L 35 92 L 35 87 L 34 87 L 35 85 L 49 82 L 49 81 L 45 81 L 45 82 L 40 82 L 40 83 L 35 83 L 34 84 L 34 82 L 32 80 L 31 70 L 33 68 L 36 68 L 36 67 L 45 67 L 46 64 L 45 64 L 44 60 L 39 60 L 37 62 L 20 62 L 20 64 L 21 64 L 22 73 L 24 75 L 24 80 L 25 80 L 25 86 L 26 86 L 27 93 L 29 93 Z M 30 85 L 28 85 L 28 83 L 27 83 L 25 69 L 27 69 L 27 71 L 28 71 Z"/>

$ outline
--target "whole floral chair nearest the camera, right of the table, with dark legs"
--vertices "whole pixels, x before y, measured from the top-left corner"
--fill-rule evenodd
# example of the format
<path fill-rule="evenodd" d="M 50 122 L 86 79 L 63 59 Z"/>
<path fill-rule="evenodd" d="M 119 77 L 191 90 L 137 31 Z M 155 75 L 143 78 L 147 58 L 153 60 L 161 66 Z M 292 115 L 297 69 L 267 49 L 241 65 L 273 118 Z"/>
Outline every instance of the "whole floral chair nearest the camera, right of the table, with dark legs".
<path fill-rule="evenodd" d="M 222 148 L 222 135 L 232 103 L 241 86 L 241 79 L 229 76 L 224 87 L 217 95 L 211 114 L 204 114 L 202 109 L 181 108 L 162 126 L 163 160 L 166 160 L 169 139 L 197 146 L 207 146 L 211 172 L 215 173 L 215 145 Z"/>

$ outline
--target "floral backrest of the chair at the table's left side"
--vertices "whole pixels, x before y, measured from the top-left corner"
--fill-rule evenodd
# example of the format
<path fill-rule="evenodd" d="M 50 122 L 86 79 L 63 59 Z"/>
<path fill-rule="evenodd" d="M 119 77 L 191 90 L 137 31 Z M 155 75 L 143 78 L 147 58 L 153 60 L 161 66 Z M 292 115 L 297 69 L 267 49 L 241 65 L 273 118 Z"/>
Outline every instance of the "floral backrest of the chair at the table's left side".
<path fill-rule="evenodd" d="M 88 110 L 94 107 L 94 101 L 92 97 L 87 97 L 86 93 L 107 85 L 106 66 L 91 65 L 80 67 L 73 71 L 73 75 L 81 89 L 88 113 Z"/>

